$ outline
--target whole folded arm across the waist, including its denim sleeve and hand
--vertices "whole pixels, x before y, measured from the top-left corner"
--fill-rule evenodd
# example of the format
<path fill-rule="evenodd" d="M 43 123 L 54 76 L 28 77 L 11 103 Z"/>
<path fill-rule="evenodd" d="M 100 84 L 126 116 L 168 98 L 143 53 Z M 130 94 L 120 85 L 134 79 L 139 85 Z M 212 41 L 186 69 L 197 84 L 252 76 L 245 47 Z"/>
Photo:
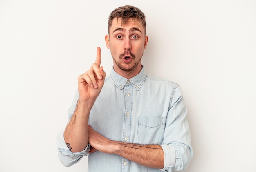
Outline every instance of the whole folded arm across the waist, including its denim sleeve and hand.
<path fill-rule="evenodd" d="M 104 153 L 118 154 L 151 168 L 170 172 L 184 171 L 193 156 L 186 114 L 182 90 L 176 85 L 170 99 L 161 145 L 137 145 L 111 141 L 88 127 L 88 142 L 92 146 L 89 153 L 99 150 Z"/>

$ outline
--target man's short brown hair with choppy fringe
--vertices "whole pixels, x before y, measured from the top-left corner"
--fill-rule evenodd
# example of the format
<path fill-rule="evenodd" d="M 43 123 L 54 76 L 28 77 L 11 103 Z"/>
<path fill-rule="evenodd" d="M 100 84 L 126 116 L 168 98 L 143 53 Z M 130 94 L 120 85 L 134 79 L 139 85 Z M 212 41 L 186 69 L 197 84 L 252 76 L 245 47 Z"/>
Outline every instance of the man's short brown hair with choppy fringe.
<path fill-rule="evenodd" d="M 118 7 L 114 11 L 112 11 L 110 13 L 110 16 L 108 17 L 108 33 L 110 31 L 110 27 L 112 26 L 114 18 L 117 18 L 117 20 L 118 18 L 121 18 L 122 25 L 126 24 L 129 18 L 132 18 L 133 20 L 138 20 L 139 22 L 141 22 L 146 34 L 146 16 L 137 7 L 125 5 L 122 7 Z"/>

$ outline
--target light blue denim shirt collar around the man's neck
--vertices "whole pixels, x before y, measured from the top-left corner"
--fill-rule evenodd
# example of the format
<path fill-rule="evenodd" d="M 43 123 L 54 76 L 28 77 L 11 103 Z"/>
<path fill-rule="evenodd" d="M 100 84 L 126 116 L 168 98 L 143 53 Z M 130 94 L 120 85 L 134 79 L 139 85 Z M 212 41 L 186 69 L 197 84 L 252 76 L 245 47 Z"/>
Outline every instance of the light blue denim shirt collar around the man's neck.
<path fill-rule="evenodd" d="M 111 70 L 110 76 L 113 83 L 117 86 L 118 89 L 123 89 L 126 84 L 132 84 L 132 86 L 138 91 L 141 85 L 144 83 L 147 75 L 146 70 L 142 66 L 139 74 L 130 79 L 124 78 L 123 76 L 117 74 L 117 72 L 115 72 L 113 68 Z"/>

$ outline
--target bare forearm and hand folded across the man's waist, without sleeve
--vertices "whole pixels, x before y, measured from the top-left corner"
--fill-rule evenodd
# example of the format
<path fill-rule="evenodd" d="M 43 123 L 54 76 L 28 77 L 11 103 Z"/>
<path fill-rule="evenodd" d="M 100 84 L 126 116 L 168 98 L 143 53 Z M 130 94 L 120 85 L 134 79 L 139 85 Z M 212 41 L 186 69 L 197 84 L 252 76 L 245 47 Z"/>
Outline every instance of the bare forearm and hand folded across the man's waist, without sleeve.
<path fill-rule="evenodd" d="M 164 152 L 160 145 L 138 145 L 120 141 L 111 141 L 88 126 L 88 141 L 93 147 L 89 153 L 99 150 L 108 154 L 117 154 L 135 163 L 150 167 L 164 167 Z"/>

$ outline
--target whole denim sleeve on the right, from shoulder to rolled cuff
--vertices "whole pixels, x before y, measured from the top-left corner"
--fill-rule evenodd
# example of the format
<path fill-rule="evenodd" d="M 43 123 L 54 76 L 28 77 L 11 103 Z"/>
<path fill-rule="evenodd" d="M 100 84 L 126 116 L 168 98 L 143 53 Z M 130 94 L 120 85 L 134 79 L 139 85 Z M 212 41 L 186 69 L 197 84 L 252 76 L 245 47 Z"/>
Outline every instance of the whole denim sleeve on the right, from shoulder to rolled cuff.
<path fill-rule="evenodd" d="M 187 109 L 182 97 L 182 89 L 176 85 L 170 99 L 164 139 L 161 145 L 164 151 L 164 168 L 162 171 L 184 171 L 193 157 L 186 114 Z"/>

